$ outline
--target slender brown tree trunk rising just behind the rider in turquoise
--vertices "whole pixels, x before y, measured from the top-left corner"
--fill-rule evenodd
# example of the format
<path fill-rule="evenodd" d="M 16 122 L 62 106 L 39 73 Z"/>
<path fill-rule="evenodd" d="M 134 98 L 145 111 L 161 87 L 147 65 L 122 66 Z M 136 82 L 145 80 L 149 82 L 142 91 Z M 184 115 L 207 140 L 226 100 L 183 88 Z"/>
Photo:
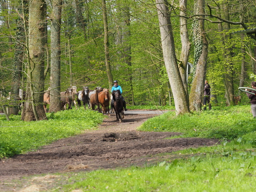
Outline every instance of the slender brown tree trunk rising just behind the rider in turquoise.
<path fill-rule="evenodd" d="M 104 24 L 105 62 L 106 62 L 106 69 L 107 69 L 107 78 L 109 80 L 109 89 L 111 90 L 112 84 L 113 84 L 113 77 L 112 77 L 110 61 L 109 61 L 109 30 L 107 25 L 106 0 L 102 0 L 102 15 L 103 15 L 103 24 Z"/>

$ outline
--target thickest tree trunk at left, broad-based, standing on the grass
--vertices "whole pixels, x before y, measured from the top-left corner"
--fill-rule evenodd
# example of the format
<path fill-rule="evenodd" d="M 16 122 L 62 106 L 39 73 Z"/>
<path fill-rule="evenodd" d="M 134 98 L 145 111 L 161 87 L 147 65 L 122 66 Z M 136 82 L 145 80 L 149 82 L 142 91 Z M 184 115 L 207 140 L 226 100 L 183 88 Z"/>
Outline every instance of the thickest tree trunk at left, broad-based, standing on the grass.
<path fill-rule="evenodd" d="M 44 89 L 44 20 L 45 1 L 34 0 L 29 6 L 28 31 L 28 88 L 22 120 L 32 121 L 45 119 L 43 109 Z"/>

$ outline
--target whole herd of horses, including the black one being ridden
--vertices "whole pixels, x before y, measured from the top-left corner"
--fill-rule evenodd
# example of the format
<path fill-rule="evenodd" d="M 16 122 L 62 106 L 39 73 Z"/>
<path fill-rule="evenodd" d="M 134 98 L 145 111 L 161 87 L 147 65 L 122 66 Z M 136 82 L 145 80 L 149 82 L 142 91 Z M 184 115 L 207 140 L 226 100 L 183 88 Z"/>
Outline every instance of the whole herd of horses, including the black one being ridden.
<path fill-rule="evenodd" d="M 84 86 L 83 90 L 78 92 L 76 89 L 76 86 L 72 86 L 70 88 L 67 88 L 65 92 L 61 92 L 62 110 L 72 109 L 72 102 L 74 103 L 76 109 L 78 109 L 81 106 L 81 102 L 83 102 L 85 110 L 87 105 L 88 109 L 92 108 L 92 110 L 98 110 L 103 114 L 108 114 L 108 116 L 110 115 L 109 102 L 111 101 L 111 99 L 108 89 L 101 88 L 99 86 L 97 86 L 94 90 L 90 90 L 88 86 Z M 119 99 L 120 95 L 121 93 L 119 90 L 112 92 L 112 98 L 114 100 L 113 110 L 116 112 L 116 119 L 119 122 L 121 122 L 124 118 L 123 101 Z M 47 112 L 47 104 L 50 105 L 50 89 L 45 91 L 43 95 L 43 107 L 45 109 L 45 112 Z M 96 106 L 97 109 L 95 109 Z"/>

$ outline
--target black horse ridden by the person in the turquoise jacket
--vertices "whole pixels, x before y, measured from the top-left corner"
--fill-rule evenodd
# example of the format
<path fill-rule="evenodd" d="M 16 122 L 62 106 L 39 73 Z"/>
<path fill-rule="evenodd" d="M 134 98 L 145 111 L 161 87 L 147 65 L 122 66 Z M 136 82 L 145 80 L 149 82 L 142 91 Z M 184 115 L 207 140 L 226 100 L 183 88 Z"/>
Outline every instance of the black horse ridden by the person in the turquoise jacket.
<path fill-rule="evenodd" d="M 112 97 L 114 100 L 113 109 L 116 112 L 116 120 L 121 123 L 122 119 L 124 118 L 124 107 L 123 107 L 123 101 L 120 99 L 121 92 L 120 90 L 115 90 L 112 92 Z"/>

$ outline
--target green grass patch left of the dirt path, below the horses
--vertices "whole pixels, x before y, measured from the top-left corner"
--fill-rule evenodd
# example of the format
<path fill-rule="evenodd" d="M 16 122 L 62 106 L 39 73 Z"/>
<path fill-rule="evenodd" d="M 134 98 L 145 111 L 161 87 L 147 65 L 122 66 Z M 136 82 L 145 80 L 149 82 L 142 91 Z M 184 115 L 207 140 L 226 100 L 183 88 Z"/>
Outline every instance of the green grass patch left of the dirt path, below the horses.
<path fill-rule="evenodd" d="M 0 116 L 0 158 L 35 150 L 61 138 L 95 129 L 104 116 L 92 110 L 66 110 L 47 114 L 48 120 L 21 121 L 21 116 Z"/>

